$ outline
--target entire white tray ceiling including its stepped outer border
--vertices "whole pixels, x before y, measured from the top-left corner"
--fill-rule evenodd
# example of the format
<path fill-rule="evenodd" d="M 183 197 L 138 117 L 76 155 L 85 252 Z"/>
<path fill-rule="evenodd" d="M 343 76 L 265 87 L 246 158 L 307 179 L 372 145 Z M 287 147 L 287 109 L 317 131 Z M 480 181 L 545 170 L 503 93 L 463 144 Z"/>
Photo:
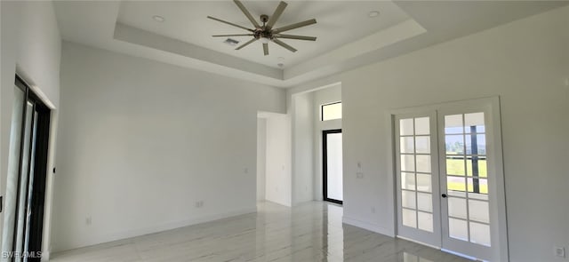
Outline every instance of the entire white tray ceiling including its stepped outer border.
<path fill-rule="evenodd" d="M 287 32 L 317 36 L 287 40 L 292 53 L 260 43 L 240 51 L 211 35 L 246 33 L 206 19 L 251 22 L 232 1 L 55 1 L 64 40 L 220 75 L 290 87 L 354 67 L 467 36 L 512 20 L 569 4 L 565 1 L 287 1 L 276 28 L 302 20 L 317 24 Z M 278 1 L 244 1 L 257 17 Z M 381 15 L 369 18 L 377 10 Z M 152 16 L 165 18 L 156 22 Z M 237 38 L 237 40 L 246 40 Z M 284 57 L 284 68 L 277 67 Z"/>

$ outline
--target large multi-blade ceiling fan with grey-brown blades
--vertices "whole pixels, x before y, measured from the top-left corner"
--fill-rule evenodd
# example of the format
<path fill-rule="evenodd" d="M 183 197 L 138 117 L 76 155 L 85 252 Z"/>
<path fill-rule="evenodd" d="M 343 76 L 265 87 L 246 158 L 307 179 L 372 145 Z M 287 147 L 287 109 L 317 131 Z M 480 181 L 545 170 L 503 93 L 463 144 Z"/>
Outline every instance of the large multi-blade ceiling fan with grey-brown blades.
<path fill-rule="evenodd" d="M 273 12 L 272 16 L 269 17 L 266 14 L 260 15 L 260 21 L 263 23 L 262 26 L 257 22 L 257 20 L 253 19 L 251 13 L 249 11 L 247 11 L 247 9 L 243 5 L 243 3 L 241 3 L 241 1 L 233 0 L 233 2 L 235 2 L 237 7 L 239 7 L 239 9 L 241 9 L 241 12 L 244 13 L 244 15 L 247 17 L 247 19 L 249 19 L 251 21 L 254 29 L 245 28 L 245 27 L 239 26 L 237 24 L 234 24 L 234 23 L 231 23 L 231 22 L 228 22 L 225 20 L 220 20 L 220 19 L 217 19 L 217 18 L 214 18 L 211 16 L 208 16 L 207 18 L 209 18 L 211 20 L 220 21 L 222 23 L 226 23 L 226 24 L 234 26 L 236 28 L 242 28 L 242 29 L 250 32 L 250 34 L 213 36 L 213 37 L 227 37 L 227 36 L 252 36 L 253 37 L 247 43 L 241 44 L 240 46 L 238 46 L 236 48 L 236 50 L 240 50 L 240 49 L 244 48 L 245 46 L 247 46 L 248 44 L 251 44 L 257 40 L 260 40 L 263 43 L 263 53 L 265 55 L 268 55 L 268 42 L 271 42 L 271 41 L 275 44 L 278 44 L 278 45 L 284 47 L 285 49 L 288 49 L 291 52 L 296 52 L 296 49 L 294 49 L 293 46 L 285 44 L 283 41 L 280 40 L 280 38 L 307 40 L 307 41 L 316 41 L 317 40 L 317 37 L 314 37 L 314 36 L 294 36 L 294 35 L 281 34 L 284 31 L 292 30 L 295 28 L 302 28 L 302 27 L 306 27 L 306 26 L 309 26 L 312 24 L 316 24 L 317 20 L 315 20 L 315 19 L 294 23 L 292 25 L 284 26 L 282 28 L 273 28 L 273 26 L 275 26 L 276 20 L 278 20 L 278 18 L 284 12 L 284 8 L 286 7 L 286 5 L 288 5 L 288 4 L 284 3 L 283 1 L 281 1 L 281 3 L 278 4 L 278 6 L 276 7 L 276 10 L 275 10 L 275 12 Z"/>

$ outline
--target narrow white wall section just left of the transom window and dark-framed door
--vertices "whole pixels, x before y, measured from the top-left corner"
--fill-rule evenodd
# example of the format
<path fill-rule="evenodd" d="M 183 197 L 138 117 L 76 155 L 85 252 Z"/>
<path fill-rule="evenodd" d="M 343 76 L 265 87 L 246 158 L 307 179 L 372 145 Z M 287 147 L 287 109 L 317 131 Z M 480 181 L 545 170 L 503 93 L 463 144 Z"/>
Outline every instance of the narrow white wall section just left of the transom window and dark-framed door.
<path fill-rule="evenodd" d="M 293 96 L 293 205 L 314 200 L 312 93 Z"/>

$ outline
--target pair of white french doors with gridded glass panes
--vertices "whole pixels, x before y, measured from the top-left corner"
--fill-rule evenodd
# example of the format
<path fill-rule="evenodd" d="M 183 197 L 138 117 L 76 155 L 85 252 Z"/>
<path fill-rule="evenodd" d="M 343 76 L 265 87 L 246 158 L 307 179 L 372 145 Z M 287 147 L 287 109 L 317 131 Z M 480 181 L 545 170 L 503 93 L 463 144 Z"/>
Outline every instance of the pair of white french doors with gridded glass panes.
<path fill-rule="evenodd" d="M 480 99 L 395 115 L 399 236 L 507 261 L 497 108 Z"/>

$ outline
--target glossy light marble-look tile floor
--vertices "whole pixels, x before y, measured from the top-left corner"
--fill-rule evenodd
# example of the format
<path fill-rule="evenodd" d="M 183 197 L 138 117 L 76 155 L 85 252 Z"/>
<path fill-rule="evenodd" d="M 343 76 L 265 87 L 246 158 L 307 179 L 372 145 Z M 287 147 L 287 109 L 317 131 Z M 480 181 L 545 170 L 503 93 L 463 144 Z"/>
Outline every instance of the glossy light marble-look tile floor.
<path fill-rule="evenodd" d="M 52 261 L 469 261 L 342 225 L 341 217 L 341 207 L 325 202 L 260 202 L 256 214 L 55 253 Z"/>

